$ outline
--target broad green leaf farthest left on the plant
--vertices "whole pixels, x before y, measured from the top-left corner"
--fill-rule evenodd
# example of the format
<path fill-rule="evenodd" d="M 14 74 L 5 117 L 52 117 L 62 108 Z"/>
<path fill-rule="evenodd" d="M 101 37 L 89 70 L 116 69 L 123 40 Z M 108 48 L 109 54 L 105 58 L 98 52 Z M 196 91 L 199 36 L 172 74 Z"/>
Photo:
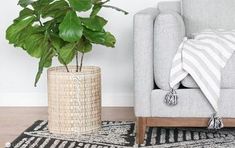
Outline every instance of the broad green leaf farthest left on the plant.
<path fill-rule="evenodd" d="M 6 31 L 6 39 L 10 44 L 15 44 L 19 40 L 20 32 L 24 30 L 27 26 L 31 25 L 35 17 L 29 17 L 23 20 L 14 22 L 8 27 Z"/>

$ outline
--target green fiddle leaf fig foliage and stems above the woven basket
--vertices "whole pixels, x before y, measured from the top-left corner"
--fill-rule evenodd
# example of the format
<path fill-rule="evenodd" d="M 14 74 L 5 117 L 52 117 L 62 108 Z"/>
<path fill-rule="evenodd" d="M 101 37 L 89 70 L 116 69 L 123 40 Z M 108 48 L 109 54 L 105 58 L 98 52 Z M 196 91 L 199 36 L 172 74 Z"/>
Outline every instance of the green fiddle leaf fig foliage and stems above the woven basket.
<path fill-rule="evenodd" d="M 76 72 L 82 70 L 84 54 L 92 50 L 92 44 L 114 47 L 115 37 L 104 29 L 107 20 L 99 16 L 110 0 L 19 0 L 22 7 L 19 17 L 6 30 L 6 39 L 15 47 L 38 58 L 36 86 L 44 68 L 52 65 L 57 57 L 69 72 L 68 64 L 76 59 Z M 81 12 L 90 15 L 84 17 Z M 81 54 L 79 66 L 78 56 Z"/>

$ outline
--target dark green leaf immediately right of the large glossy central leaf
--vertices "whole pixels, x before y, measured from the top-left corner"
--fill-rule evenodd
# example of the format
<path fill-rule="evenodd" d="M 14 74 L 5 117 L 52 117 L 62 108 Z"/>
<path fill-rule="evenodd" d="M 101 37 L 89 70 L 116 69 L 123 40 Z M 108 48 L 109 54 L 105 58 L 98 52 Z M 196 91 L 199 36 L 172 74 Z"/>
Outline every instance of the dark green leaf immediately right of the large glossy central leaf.
<path fill-rule="evenodd" d="M 82 18 L 81 20 L 83 25 L 92 31 L 102 31 L 103 27 L 107 24 L 107 21 L 100 16 Z"/>

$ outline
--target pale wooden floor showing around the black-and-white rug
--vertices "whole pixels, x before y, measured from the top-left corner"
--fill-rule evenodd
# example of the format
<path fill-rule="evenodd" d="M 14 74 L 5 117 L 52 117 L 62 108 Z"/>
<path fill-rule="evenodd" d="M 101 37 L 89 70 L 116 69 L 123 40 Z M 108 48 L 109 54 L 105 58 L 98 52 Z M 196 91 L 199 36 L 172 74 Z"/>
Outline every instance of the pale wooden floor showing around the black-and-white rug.
<path fill-rule="evenodd" d="M 0 147 L 4 147 L 6 142 L 11 142 L 27 127 L 36 120 L 47 119 L 47 108 L 45 107 L 20 107 L 8 108 L 0 107 Z M 133 108 L 103 108 L 102 120 L 134 121 Z"/>

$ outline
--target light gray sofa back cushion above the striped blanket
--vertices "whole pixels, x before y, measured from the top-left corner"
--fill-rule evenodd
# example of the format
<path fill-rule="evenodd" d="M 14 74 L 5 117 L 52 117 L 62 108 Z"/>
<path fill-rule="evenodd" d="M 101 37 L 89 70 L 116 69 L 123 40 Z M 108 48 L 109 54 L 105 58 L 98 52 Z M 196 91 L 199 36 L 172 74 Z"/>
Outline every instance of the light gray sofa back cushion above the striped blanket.
<path fill-rule="evenodd" d="M 235 29 L 235 0 L 182 0 L 187 36 L 204 29 Z"/>

